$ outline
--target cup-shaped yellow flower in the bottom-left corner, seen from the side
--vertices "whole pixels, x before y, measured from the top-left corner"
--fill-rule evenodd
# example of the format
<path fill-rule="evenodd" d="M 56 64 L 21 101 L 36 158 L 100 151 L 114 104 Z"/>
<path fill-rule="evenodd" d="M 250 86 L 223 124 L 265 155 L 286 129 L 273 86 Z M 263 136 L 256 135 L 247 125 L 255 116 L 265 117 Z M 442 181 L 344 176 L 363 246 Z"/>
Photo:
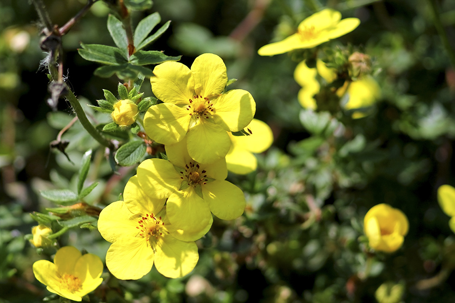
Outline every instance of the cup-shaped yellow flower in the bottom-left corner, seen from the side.
<path fill-rule="evenodd" d="M 73 246 L 64 246 L 55 254 L 54 263 L 39 260 L 33 264 L 36 279 L 50 292 L 73 301 L 81 301 L 95 290 L 103 278 L 103 262 L 93 254 L 82 255 Z"/>

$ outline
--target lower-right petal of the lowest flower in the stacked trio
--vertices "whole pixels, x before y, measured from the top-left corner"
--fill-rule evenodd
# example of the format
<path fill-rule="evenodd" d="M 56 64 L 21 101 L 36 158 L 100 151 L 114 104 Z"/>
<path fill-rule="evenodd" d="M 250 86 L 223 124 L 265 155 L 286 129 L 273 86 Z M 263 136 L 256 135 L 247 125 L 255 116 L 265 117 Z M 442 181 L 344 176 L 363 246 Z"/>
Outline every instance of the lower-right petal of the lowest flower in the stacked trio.
<path fill-rule="evenodd" d="M 158 247 L 155 266 L 168 278 L 186 276 L 198 263 L 198 246 L 195 242 L 184 242 L 167 235 L 159 239 Z"/>

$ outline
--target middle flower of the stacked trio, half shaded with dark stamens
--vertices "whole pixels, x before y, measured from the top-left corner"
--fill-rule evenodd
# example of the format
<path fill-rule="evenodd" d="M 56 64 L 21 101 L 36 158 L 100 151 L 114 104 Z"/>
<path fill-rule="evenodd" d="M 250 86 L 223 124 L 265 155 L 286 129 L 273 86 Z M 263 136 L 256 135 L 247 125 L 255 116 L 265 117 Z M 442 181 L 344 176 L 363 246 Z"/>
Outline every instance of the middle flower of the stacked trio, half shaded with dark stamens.
<path fill-rule="evenodd" d="M 155 198 L 167 198 L 166 211 L 171 224 L 187 234 L 204 235 L 212 214 L 233 220 L 245 210 L 245 196 L 228 176 L 225 159 L 212 164 L 194 161 L 186 149 L 186 139 L 166 145 L 169 161 L 149 159 L 138 167 L 141 187 Z"/>

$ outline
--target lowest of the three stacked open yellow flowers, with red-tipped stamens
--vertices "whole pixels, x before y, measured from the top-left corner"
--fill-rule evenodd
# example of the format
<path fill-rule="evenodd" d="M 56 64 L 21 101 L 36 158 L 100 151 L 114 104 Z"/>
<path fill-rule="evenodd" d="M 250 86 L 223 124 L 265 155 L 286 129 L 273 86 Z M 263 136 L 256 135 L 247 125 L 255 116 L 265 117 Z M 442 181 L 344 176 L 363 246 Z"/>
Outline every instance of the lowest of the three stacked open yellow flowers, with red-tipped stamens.
<path fill-rule="evenodd" d="M 140 279 L 153 264 L 166 277 L 183 277 L 198 262 L 196 243 L 175 237 L 179 234 L 166 216 L 165 199 L 154 199 L 149 193 L 141 188 L 137 176 L 131 177 L 123 192 L 124 201 L 108 205 L 98 219 L 98 230 L 112 243 L 106 266 L 118 279 Z M 204 231 L 210 226 L 211 222 Z"/>

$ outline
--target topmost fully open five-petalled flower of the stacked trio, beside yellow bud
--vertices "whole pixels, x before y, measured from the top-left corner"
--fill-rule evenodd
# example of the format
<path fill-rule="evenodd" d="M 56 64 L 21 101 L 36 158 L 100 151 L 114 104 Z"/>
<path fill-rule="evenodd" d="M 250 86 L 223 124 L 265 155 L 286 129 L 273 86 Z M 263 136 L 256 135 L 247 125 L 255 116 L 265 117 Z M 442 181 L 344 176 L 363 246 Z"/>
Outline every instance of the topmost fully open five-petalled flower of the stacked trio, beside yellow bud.
<path fill-rule="evenodd" d="M 187 137 L 188 152 L 199 163 L 212 163 L 228 154 L 226 131 L 240 131 L 251 122 L 256 104 L 243 89 L 223 93 L 228 82 L 221 58 L 203 54 L 191 69 L 165 62 L 153 70 L 153 93 L 164 103 L 149 108 L 144 117 L 147 135 L 162 144 Z"/>

